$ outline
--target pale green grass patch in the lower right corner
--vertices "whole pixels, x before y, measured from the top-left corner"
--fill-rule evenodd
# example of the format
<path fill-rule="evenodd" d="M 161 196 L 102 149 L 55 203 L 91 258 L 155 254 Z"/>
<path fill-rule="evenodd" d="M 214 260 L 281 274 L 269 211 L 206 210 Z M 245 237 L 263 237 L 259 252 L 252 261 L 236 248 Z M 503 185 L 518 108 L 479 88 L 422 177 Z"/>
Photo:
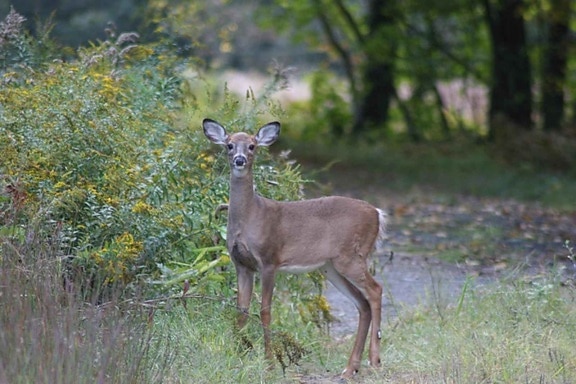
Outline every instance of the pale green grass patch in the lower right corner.
<path fill-rule="evenodd" d="M 392 382 L 513 383 L 576 380 L 574 287 L 549 279 L 468 289 L 442 317 L 425 309 L 388 334 Z"/>

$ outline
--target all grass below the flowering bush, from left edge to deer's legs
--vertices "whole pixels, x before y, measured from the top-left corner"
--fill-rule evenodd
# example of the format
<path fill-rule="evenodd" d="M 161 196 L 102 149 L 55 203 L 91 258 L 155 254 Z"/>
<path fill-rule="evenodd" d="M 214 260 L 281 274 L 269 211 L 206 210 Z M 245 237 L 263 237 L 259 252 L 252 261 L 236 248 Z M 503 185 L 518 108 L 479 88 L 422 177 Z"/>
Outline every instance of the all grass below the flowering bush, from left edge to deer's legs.
<path fill-rule="evenodd" d="M 96 292 L 87 301 L 83 287 L 64 278 L 60 246 L 32 231 L 26 238 L 0 237 L 0 383 L 284 380 L 281 365 L 270 370 L 264 358 L 257 303 L 239 335 L 233 295 L 144 299 L 112 291 L 109 301 Z M 279 287 L 275 298 L 273 340 L 287 375 L 298 372 L 294 363 L 315 367 L 324 354 L 316 325 L 302 324 L 287 304 L 294 294 Z"/>

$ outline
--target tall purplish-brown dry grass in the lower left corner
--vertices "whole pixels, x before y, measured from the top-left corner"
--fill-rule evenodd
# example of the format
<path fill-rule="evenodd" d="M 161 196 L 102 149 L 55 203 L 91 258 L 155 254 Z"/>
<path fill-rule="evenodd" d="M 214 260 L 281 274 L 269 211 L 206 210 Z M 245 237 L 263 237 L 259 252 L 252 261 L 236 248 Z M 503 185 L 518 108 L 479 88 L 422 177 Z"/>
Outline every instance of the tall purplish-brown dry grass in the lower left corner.
<path fill-rule="evenodd" d="M 168 360 L 151 355 L 155 331 L 142 312 L 86 303 L 48 239 L 28 235 L 24 246 L 0 243 L 0 382 L 155 382 Z"/>

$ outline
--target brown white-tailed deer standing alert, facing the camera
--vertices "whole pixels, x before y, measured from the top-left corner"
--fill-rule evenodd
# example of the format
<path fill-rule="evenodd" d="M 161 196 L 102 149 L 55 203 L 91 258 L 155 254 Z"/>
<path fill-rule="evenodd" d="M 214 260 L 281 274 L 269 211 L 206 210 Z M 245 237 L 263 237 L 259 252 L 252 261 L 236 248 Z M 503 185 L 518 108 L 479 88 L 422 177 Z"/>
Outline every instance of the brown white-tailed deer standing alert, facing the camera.
<path fill-rule="evenodd" d="M 252 164 L 258 146 L 269 146 L 280 134 L 280 123 L 264 125 L 255 136 L 227 134 L 216 121 L 204 119 L 204 134 L 223 145 L 230 163 L 227 246 L 238 278 L 238 327 L 248 316 L 254 273 L 260 271 L 264 350 L 270 346 L 270 306 L 276 272 L 319 269 L 352 300 L 359 312 L 354 348 L 342 376 L 358 372 L 370 334 L 370 364 L 380 365 L 382 287 L 370 275 L 368 257 L 384 243 L 386 214 L 372 205 L 346 197 L 278 202 L 254 191 Z"/>

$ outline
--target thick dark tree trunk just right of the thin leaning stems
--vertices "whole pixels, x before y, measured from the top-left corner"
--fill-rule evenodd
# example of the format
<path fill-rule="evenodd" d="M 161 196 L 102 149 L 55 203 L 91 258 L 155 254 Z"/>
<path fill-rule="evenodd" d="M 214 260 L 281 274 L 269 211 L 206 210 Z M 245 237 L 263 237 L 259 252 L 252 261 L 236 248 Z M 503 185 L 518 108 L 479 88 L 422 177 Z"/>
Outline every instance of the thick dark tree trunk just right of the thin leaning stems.
<path fill-rule="evenodd" d="M 388 121 L 394 97 L 395 44 L 390 29 L 395 21 L 394 1 L 370 0 L 368 36 L 364 42 L 365 64 L 362 94 L 354 111 L 352 133 L 361 136 Z"/>

